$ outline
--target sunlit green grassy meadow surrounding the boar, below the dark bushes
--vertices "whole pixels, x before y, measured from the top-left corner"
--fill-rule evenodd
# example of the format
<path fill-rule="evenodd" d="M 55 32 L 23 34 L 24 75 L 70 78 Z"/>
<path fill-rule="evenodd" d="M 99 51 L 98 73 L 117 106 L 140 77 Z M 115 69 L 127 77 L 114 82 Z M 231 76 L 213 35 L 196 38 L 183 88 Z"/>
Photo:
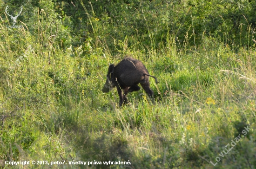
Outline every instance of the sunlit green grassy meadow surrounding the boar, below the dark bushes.
<path fill-rule="evenodd" d="M 113 41 L 119 55 L 111 56 L 104 42 L 61 49 L 42 38 L 42 30 L 40 39 L 5 25 L 0 23 L 2 167 L 8 168 L 6 160 L 121 160 L 131 165 L 86 168 L 214 168 L 209 162 L 216 163 L 248 125 L 248 134 L 215 168 L 255 168 L 255 46 L 204 37 L 200 45 L 178 50 L 168 35 L 155 49 Z M 108 65 L 125 54 L 140 59 L 160 81 L 150 78 L 155 101 L 141 90 L 129 93 L 130 103 L 120 108 L 116 89 L 101 92 Z M 13 168 L 19 167 L 63 168 Z"/>

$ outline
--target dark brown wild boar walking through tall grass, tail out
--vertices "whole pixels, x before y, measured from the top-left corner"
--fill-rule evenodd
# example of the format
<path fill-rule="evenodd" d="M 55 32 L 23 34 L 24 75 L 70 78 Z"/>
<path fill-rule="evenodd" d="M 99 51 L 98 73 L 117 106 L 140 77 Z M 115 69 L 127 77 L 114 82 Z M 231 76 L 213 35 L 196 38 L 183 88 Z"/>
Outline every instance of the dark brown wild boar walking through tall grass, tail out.
<path fill-rule="evenodd" d="M 119 105 L 127 103 L 128 99 L 126 95 L 128 92 L 138 91 L 141 88 L 138 84 L 141 84 L 142 88 L 146 91 L 149 97 L 154 97 L 153 91 L 149 87 L 148 78 L 153 77 L 149 75 L 146 67 L 140 60 L 134 58 L 124 58 L 118 65 L 109 65 L 106 83 L 102 91 L 109 92 L 116 86 L 119 95 Z M 157 79 L 155 78 L 155 83 Z"/>

